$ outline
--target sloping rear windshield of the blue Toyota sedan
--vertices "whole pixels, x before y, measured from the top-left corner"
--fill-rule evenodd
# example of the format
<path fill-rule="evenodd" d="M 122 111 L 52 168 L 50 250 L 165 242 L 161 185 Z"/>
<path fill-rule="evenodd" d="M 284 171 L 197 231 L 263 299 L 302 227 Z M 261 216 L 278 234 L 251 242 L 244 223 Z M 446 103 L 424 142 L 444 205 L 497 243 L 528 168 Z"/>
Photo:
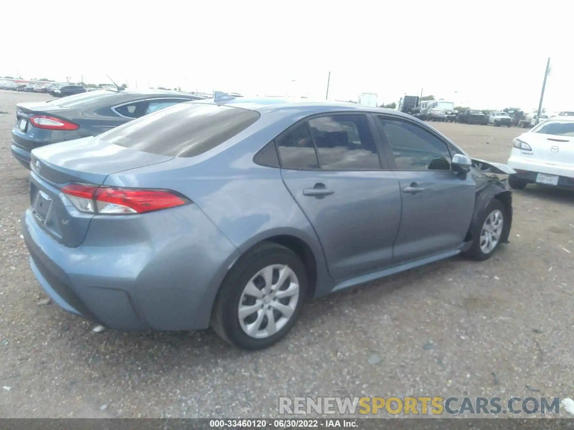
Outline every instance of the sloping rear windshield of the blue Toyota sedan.
<path fill-rule="evenodd" d="M 100 135 L 105 142 L 168 157 L 203 154 L 259 119 L 247 109 L 208 103 L 180 103 Z"/>

